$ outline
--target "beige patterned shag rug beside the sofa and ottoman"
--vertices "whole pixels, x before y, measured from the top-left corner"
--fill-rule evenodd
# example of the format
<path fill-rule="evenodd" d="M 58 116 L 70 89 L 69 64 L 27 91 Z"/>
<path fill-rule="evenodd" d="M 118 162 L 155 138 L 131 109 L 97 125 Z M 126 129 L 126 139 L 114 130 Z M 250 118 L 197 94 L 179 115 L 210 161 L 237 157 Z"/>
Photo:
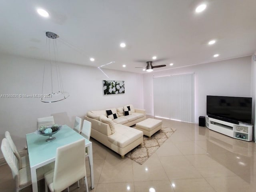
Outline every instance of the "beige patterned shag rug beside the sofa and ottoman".
<path fill-rule="evenodd" d="M 138 164 L 143 164 L 174 132 L 175 128 L 163 127 L 151 138 L 143 136 L 143 142 L 125 156 Z"/>

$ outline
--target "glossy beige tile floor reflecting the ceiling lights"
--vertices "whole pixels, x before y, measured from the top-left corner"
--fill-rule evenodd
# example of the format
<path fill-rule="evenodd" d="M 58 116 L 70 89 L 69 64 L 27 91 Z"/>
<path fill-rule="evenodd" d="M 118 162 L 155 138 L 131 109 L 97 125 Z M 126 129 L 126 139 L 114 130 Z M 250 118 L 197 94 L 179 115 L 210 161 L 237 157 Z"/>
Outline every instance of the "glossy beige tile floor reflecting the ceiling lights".
<path fill-rule="evenodd" d="M 152 118 L 152 117 L 151 117 Z M 160 118 L 158 118 L 160 119 Z M 197 124 L 163 120 L 176 132 L 143 164 L 106 148 L 94 139 L 93 192 L 255 192 L 256 144 L 230 138 Z M 255 162 L 255 163 L 254 163 Z M 86 160 L 89 188 L 90 170 Z M 44 181 L 38 183 L 44 191 Z M 0 166 L 0 192 L 13 192 L 8 165 Z M 22 192 L 31 192 L 27 187 Z M 67 190 L 66 190 L 67 191 Z M 70 192 L 85 191 L 80 180 Z"/>

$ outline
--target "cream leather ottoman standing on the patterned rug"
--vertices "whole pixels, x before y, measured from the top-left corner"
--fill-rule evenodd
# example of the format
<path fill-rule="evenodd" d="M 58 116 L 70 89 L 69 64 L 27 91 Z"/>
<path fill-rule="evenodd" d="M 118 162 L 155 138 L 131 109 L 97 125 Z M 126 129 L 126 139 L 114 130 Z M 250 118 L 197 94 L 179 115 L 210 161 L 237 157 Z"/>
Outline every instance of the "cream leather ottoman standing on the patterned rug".
<path fill-rule="evenodd" d="M 143 131 L 143 134 L 151 138 L 151 136 L 162 128 L 162 120 L 148 118 L 136 123 L 136 129 Z"/>

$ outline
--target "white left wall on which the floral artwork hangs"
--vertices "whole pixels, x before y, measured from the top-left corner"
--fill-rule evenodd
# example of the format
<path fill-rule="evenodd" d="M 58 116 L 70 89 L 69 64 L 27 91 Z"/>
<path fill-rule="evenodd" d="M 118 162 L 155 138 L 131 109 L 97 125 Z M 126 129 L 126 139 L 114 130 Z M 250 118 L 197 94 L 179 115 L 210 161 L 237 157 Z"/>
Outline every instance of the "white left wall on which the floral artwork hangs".
<path fill-rule="evenodd" d="M 1 54 L 0 95 L 41 94 L 45 63 L 48 64 L 45 60 Z M 60 69 L 64 90 L 70 93 L 65 100 L 43 103 L 38 98 L 0 98 L 1 140 L 8 130 L 18 150 L 24 150 L 25 134 L 36 130 L 37 118 L 53 115 L 56 123 L 72 127 L 74 117 L 84 118 L 89 110 L 104 110 L 126 104 L 143 108 L 142 74 L 103 69 L 108 79 L 95 67 L 61 63 Z M 104 96 L 102 80 L 124 80 L 125 93 Z"/>

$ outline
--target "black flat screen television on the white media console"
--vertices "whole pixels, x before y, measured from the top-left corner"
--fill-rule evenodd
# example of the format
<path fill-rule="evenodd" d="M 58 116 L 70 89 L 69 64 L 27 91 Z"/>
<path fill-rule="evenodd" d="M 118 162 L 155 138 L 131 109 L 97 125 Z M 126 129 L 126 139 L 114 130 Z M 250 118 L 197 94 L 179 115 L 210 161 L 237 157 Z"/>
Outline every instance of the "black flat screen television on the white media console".
<path fill-rule="evenodd" d="M 252 122 L 251 97 L 207 96 L 206 114 L 244 123 Z"/>

